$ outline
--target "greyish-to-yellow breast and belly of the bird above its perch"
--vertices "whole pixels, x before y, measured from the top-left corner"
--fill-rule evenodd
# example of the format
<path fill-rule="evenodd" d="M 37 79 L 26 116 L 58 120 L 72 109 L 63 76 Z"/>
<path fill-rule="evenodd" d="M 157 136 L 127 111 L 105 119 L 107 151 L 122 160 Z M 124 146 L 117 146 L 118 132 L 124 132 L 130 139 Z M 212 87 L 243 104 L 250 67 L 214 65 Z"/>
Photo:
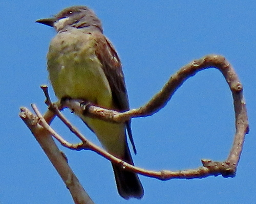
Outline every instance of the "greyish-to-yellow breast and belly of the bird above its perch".
<path fill-rule="evenodd" d="M 90 36 L 56 36 L 48 53 L 49 78 L 58 98 L 86 99 L 109 108 L 112 93 L 94 45 Z"/>

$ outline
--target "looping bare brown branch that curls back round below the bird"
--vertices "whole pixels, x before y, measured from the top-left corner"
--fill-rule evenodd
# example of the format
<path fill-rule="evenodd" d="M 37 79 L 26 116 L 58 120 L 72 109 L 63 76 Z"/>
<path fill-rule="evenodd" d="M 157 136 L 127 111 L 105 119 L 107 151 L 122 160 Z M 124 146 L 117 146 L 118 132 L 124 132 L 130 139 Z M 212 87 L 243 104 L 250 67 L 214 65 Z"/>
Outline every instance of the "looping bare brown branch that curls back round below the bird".
<path fill-rule="evenodd" d="M 228 83 L 228 86 L 232 92 L 234 112 L 236 117 L 236 134 L 234 135 L 233 146 L 230 150 L 230 153 L 227 159 L 223 162 L 202 160 L 202 164 L 203 164 L 202 167 L 199 167 L 196 169 L 182 170 L 182 171 L 169 171 L 169 170 L 151 171 L 151 170 L 138 168 L 114 157 L 113 155 L 109 154 L 105 150 L 101 149 L 100 147 L 88 141 L 83 135 L 81 135 L 77 131 L 77 129 L 59 111 L 59 109 L 62 109 L 63 108 L 62 106 L 64 105 L 69 107 L 72 111 L 74 111 L 77 114 L 83 114 L 88 117 L 96 117 L 96 118 L 106 120 L 106 121 L 111 121 L 111 122 L 124 122 L 133 117 L 150 116 L 158 112 L 160 109 L 162 109 L 167 104 L 168 100 L 172 97 L 172 95 L 175 93 L 175 91 L 188 78 L 195 75 L 198 71 L 207 69 L 210 67 L 215 67 L 219 69 L 222 72 L 226 82 Z M 243 86 L 239 81 L 236 72 L 234 71 L 232 66 L 229 64 L 229 62 L 224 57 L 218 56 L 218 55 L 208 55 L 199 60 L 194 60 L 191 63 L 185 65 L 170 77 L 169 81 L 150 101 L 148 101 L 146 105 L 138 109 L 132 109 L 130 111 L 126 111 L 123 113 L 119 113 L 113 110 L 103 109 L 101 107 L 94 106 L 90 103 L 83 106 L 81 104 L 84 104 L 84 101 L 77 100 L 77 99 L 67 99 L 65 101 L 62 101 L 63 103 L 52 104 L 50 101 L 50 97 L 47 93 L 47 88 L 44 88 L 44 92 L 46 94 L 47 103 L 50 107 L 50 110 L 53 111 L 54 113 L 50 114 L 49 113 L 50 111 L 48 111 L 45 114 L 45 116 L 42 117 L 39 111 L 33 105 L 33 109 L 37 114 L 37 117 L 33 116 L 34 126 L 40 125 L 42 130 L 44 130 L 45 132 L 46 130 L 49 131 L 49 133 L 53 135 L 62 145 L 65 145 L 68 148 L 75 149 L 75 150 L 81 150 L 81 149 L 93 150 L 97 152 L 97 154 L 105 157 L 106 159 L 112 162 L 115 162 L 121 165 L 123 168 L 127 170 L 140 173 L 141 175 L 155 177 L 160 180 L 193 179 L 193 178 L 202 178 L 209 175 L 217 176 L 220 174 L 223 175 L 224 177 L 233 177 L 236 174 L 237 165 L 242 152 L 245 134 L 249 132 L 247 111 L 245 106 L 245 100 L 243 97 Z M 85 101 L 85 102 L 88 102 L 88 101 Z M 20 115 L 22 115 L 24 111 L 22 110 L 22 113 Z M 66 140 L 63 140 L 61 136 L 59 136 L 57 133 L 54 132 L 54 130 L 51 129 L 48 123 L 49 121 L 52 120 L 55 114 L 70 128 L 70 130 L 82 141 L 82 143 L 70 144 Z M 30 115 L 30 117 L 32 117 L 32 114 Z M 34 131 L 32 131 L 32 133 L 34 134 Z"/>

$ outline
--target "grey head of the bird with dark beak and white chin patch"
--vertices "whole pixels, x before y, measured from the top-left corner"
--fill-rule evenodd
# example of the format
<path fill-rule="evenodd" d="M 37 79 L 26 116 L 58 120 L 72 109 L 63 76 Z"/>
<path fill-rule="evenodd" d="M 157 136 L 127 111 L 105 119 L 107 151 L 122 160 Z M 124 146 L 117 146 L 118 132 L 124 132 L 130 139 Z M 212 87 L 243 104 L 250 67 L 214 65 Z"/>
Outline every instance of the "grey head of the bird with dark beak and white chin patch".
<path fill-rule="evenodd" d="M 90 28 L 103 33 L 102 25 L 95 13 L 86 6 L 73 6 L 60 11 L 52 18 L 39 19 L 36 22 L 54 27 L 57 32 L 72 28 Z"/>

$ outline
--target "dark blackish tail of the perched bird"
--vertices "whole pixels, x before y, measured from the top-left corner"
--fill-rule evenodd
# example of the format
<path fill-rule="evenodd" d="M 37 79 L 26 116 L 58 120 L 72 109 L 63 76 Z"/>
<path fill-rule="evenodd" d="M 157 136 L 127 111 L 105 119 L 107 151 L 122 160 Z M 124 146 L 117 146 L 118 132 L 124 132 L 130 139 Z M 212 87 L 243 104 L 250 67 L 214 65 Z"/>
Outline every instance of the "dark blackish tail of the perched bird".
<path fill-rule="evenodd" d="M 126 146 L 123 160 L 133 165 L 133 160 L 129 148 Z M 136 173 L 122 169 L 120 165 L 112 163 L 118 193 L 124 198 L 142 198 L 144 190 Z"/>

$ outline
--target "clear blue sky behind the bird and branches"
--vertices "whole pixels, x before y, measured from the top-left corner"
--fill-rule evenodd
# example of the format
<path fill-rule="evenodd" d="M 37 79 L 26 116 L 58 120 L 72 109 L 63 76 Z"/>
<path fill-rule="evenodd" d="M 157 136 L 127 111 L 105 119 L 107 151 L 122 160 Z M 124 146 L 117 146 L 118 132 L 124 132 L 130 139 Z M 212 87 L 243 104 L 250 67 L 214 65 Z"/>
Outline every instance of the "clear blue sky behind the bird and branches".
<path fill-rule="evenodd" d="M 170 180 L 140 176 L 142 200 L 122 199 L 109 161 L 91 151 L 60 146 L 95 203 L 255 203 L 256 202 L 256 3 L 255 1 L 4 1 L 0 29 L 0 203 L 73 203 L 59 175 L 18 117 L 35 103 L 46 111 L 39 86 L 49 84 L 46 54 L 55 31 L 35 23 L 63 8 L 87 5 L 102 20 L 104 34 L 123 64 L 131 108 L 145 104 L 171 74 L 207 54 L 223 55 L 244 85 L 250 133 L 237 175 L 225 179 Z M 53 99 L 54 94 L 51 90 Z M 66 111 L 68 115 L 69 112 Z M 96 137 L 71 117 L 91 141 Z M 53 127 L 77 139 L 57 121 Z M 214 69 L 199 72 L 178 89 L 167 106 L 132 121 L 135 164 L 152 170 L 197 168 L 200 159 L 223 161 L 234 134 L 229 88 Z"/>

